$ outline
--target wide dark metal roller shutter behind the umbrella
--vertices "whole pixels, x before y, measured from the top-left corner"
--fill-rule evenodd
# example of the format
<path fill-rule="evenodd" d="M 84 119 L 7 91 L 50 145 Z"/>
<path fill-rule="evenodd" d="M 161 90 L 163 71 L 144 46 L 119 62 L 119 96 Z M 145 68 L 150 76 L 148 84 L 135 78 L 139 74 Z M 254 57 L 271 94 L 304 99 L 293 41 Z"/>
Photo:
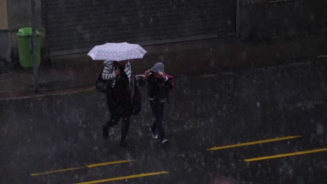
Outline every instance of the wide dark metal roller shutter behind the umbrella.
<path fill-rule="evenodd" d="M 87 52 L 94 45 L 140 45 L 235 35 L 231 0 L 43 0 L 50 55 Z"/>

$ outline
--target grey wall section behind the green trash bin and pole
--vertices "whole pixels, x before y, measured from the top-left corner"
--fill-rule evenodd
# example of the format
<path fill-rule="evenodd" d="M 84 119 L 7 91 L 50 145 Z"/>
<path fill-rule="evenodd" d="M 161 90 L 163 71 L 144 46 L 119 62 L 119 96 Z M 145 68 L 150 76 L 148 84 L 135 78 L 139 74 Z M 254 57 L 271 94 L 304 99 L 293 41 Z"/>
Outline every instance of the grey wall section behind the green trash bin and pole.
<path fill-rule="evenodd" d="M 36 29 L 44 36 L 44 29 L 42 28 L 42 10 L 41 0 L 34 0 L 36 6 Z M 11 42 L 11 64 L 17 65 L 19 63 L 18 45 L 17 45 L 17 31 L 22 27 L 31 26 L 31 3 L 30 1 L 8 0 L 8 30 L 10 33 Z M 43 39 L 41 39 L 43 40 Z"/>

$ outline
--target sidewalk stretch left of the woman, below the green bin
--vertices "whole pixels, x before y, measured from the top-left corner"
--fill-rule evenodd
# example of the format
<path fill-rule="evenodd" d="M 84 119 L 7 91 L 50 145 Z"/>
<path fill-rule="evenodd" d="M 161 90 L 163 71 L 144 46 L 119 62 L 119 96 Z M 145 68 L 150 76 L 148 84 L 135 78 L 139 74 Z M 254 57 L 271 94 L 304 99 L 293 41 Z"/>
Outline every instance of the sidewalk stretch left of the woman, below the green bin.
<path fill-rule="evenodd" d="M 41 66 L 38 68 L 37 93 L 34 93 L 33 68 L 12 70 L 0 75 L 0 100 L 92 90 L 100 70 L 96 63 L 69 67 Z"/>

